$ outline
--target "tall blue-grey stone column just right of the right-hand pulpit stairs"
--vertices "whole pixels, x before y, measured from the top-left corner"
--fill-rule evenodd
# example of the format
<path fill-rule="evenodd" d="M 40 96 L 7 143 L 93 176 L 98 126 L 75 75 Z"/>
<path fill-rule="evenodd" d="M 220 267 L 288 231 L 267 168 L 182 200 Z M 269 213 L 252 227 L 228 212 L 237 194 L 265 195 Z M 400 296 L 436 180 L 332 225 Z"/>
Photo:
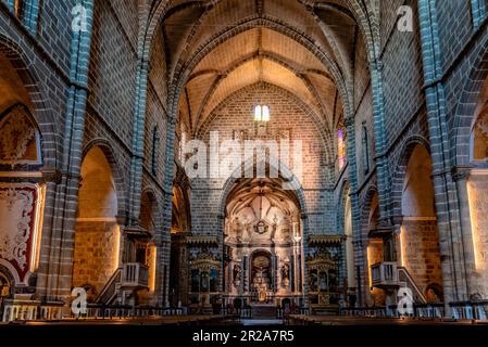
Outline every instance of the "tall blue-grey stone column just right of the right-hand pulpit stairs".
<path fill-rule="evenodd" d="M 441 51 L 435 0 L 417 0 L 422 38 L 427 121 L 433 159 L 433 181 L 439 227 L 446 313 L 450 301 L 466 299 L 464 255 L 459 226 L 455 184 L 450 172 L 449 127 L 442 82 Z"/>

